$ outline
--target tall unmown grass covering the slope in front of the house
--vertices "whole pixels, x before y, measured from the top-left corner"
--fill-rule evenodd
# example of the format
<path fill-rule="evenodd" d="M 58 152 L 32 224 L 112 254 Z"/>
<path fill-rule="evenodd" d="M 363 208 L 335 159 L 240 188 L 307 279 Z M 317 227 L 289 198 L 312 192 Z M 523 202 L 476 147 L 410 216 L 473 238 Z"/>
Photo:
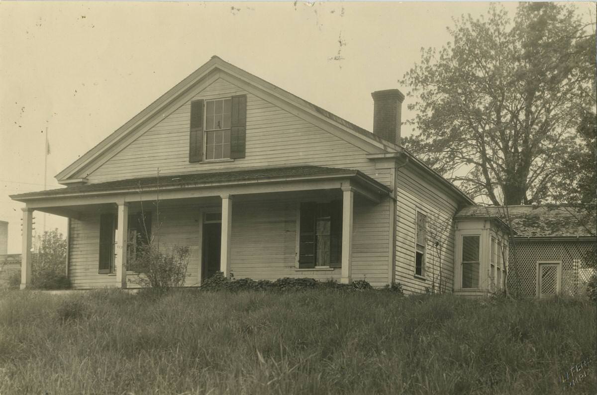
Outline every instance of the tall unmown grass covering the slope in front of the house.
<path fill-rule="evenodd" d="M 595 393 L 595 304 L 391 292 L 0 294 L 0 394 Z M 576 374 L 577 376 L 579 374 Z"/>

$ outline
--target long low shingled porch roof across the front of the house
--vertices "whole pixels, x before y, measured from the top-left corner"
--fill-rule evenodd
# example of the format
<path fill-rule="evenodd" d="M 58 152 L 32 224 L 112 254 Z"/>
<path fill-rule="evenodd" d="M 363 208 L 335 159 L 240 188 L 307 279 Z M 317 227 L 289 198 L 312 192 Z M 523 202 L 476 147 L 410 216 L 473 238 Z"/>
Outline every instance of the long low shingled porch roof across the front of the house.
<path fill-rule="evenodd" d="M 60 196 L 93 195 L 131 190 L 183 189 L 186 187 L 226 186 L 254 184 L 264 181 L 298 181 L 325 178 L 356 178 L 381 193 L 390 193 L 389 187 L 359 170 L 329 168 L 322 166 L 293 166 L 257 168 L 236 171 L 199 172 L 192 174 L 162 175 L 159 177 L 128 178 L 104 183 L 70 185 L 64 188 L 10 195 L 14 200 L 27 202 L 32 199 L 57 198 Z"/>

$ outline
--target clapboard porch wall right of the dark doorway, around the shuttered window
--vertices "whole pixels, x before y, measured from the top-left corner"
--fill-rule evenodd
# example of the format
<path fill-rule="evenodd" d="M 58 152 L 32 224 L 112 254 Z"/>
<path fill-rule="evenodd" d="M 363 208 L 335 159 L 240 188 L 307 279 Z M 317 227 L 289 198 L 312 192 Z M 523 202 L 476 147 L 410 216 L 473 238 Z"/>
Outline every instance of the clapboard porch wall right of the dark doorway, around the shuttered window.
<path fill-rule="evenodd" d="M 339 280 L 341 270 L 296 269 L 297 202 L 272 200 L 233 206 L 231 271 L 236 278 L 275 280 L 311 277 Z M 352 249 L 353 280 L 374 286 L 388 282 L 389 203 L 355 205 Z"/>

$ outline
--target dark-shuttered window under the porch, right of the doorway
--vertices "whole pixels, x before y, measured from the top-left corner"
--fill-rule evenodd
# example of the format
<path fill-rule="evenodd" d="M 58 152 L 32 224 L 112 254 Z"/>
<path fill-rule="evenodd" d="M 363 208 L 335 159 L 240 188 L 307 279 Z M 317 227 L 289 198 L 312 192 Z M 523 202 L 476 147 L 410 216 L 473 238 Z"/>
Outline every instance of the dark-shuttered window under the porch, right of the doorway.
<path fill-rule="evenodd" d="M 342 201 L 300 205 L 298 267 L 341 267 Z"/>

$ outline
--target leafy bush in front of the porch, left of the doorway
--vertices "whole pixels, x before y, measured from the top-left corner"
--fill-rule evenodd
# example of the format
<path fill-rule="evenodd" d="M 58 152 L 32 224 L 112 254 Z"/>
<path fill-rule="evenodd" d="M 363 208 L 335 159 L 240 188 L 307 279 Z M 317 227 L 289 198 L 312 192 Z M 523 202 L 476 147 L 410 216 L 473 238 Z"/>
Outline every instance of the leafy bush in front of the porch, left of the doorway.
<path fill-rule="evenodd" d="M 187 246 L 173 246 L 164 253 L 157 243 L 140 244 L 127 263 L 127 270 L 137 273 L 136 278 L 130 281 L 163 291 L 179 288 L 186 280 L 189 255 Z"/>

